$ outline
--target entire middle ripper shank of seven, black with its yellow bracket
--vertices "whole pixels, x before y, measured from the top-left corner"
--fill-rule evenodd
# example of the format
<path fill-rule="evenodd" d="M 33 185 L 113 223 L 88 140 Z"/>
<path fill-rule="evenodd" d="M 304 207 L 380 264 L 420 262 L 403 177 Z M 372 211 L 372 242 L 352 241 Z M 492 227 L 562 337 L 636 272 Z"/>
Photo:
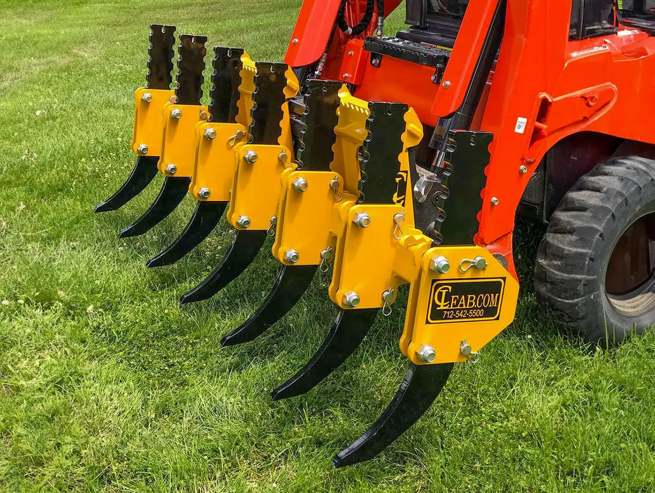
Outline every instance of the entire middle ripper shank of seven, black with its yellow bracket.
<path fill-rule="evenodd" d="M 236 230 L 234 240 L 221 265 L 185 293 L 181 304 L 209 299 L 252 263 L 274 225 L 280 176 L 293 166 L 288 99 L 297 94 L 298 81 L 286 64 L 258 62 L 255 67 L 250 140 L 234 146 L 236 169 L 227 212 Z"/>

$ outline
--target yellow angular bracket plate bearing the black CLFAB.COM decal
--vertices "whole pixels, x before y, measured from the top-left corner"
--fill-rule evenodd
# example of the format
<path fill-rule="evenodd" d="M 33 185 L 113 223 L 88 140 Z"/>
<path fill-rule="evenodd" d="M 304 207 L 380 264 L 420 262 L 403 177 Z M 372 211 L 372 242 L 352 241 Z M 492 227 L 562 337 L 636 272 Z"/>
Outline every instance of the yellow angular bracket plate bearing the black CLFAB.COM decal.
<path fill-rule="evenodd" d="M 437 274 L 430 263 L 443 257 L 451 264 Z M 477 268 L 474 261 L 483 259 Z M 462 343 L 478 352 L 514 320 L 519 283 L 485 248 L 436 247 L 423 255 L 420 280 L 409 293 L 400 350 L 417 365 L 423 346 L 434 348 L 432 363 L 466 361 Z M 411 308 L 411 309 L 410 309 Z"/>

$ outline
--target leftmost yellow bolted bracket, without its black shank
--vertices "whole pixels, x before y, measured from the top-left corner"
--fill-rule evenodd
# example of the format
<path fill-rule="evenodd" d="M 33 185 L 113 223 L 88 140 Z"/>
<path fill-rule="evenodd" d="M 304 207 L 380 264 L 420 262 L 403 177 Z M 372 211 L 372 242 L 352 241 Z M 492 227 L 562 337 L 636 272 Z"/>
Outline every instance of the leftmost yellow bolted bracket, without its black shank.
<path fill-rule="evenodd" d="M 175 98 L 175 92 L 171 90 L 141 87 L 134 92 L 132 152 L 136 155 L 161 156 L 164 139 L 162 112 L 171 98 Z"/>

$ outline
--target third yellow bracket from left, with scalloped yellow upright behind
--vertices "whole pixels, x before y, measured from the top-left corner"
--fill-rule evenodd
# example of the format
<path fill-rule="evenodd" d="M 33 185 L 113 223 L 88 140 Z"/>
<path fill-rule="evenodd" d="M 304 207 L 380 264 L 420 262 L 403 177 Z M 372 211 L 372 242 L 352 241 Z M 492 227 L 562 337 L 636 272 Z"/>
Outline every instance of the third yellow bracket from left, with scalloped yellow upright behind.
<path fill-rule="evenodd" d="M 234 181 L 234 149 L 237 144 L 248 141 L 248 127 L 252 121 L 252 94 L 255 90 L 255 62 L 248 54 L 241 57 L 244 67 L 240 72 L 238 113 L 236 123 L 200 122 L 196 124 L 195 169 L 189 192 L 196 200 L 228 202 Z M 209 193 L 201 196 L 200 191 Z"/>

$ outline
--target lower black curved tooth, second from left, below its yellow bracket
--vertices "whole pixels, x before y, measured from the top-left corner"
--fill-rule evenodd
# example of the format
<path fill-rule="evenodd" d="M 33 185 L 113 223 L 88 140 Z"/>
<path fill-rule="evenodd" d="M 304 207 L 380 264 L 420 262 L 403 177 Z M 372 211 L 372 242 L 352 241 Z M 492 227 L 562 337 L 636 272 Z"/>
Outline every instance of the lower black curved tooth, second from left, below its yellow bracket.
<path fill-rule="evenodd" d="M 189 191 L 190 184 L 191 177 L 188 176 L 167 176 L 164 178 L 164 185 L 162 185 L 159 195 L 155 198 L 155 202 L 139 219 L 123 228 L 119 233 L 119 238 L 143 234 L 166 219 L 182 202 L 182 199 Z"/>

